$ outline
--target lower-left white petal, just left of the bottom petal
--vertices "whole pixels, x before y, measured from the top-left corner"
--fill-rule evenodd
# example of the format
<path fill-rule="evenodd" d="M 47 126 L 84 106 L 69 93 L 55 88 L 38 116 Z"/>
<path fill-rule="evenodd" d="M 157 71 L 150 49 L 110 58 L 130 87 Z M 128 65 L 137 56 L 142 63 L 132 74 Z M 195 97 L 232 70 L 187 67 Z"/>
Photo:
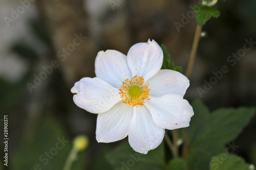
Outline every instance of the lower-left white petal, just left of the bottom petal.
<path fill-rule="evenodd" d="M 123 102 L 117 103 L 110 110 L 98 114 L 96 139 L 98 142 L 114 142 L 128 135 L 128 128 L 133 117 L 133 107 Z"/>

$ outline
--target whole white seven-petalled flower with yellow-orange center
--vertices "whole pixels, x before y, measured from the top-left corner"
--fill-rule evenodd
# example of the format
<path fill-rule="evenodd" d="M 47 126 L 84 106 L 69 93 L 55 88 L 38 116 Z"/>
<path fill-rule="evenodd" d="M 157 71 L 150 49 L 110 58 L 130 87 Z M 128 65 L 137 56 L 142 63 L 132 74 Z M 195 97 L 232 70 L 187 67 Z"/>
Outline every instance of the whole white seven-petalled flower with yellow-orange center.
<path fill-rule="evenodd" d="M 114 142 L 128 135 L 131 147 L 146 154 L 162 142 L 165 129 L 189 126 L 194 115 L 183 99 L 189 80 L 161 69 L 163 52 L 156 41 L 133 45 L 127 57 L 99 52 L 95 78 L 82 78 L 71 89 L 75 104 L 97 113 L 96 139 Z"/>

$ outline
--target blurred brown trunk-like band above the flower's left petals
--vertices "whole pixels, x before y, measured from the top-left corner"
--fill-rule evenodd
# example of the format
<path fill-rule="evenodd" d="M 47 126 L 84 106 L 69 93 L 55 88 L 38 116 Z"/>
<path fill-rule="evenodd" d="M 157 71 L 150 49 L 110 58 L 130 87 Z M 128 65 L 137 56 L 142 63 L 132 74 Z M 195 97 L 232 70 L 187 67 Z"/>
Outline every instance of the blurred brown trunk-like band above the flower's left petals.
<path fill-rule="evenodd" d="M 61 66 L 68 86 L 82 77 L 94 76 L 97 55 L 90 37 L 89 19 L 82 0 L 38 0 L 37 7 L 52 31 L 54 58 Z"/>

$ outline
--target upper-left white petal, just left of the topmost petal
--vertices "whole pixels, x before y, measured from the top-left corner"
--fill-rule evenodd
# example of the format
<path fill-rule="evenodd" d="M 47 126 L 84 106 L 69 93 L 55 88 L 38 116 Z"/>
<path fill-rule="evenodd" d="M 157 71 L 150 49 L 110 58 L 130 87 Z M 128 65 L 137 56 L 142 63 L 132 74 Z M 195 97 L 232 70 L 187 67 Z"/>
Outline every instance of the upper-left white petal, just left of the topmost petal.
<path fill-rule="evenodd" d="M 98 53 L 95 59 L 95 74 L 116 88 L 120 88 L 125 79 L 132 78 L 127 57 L 115 50 Z"/>

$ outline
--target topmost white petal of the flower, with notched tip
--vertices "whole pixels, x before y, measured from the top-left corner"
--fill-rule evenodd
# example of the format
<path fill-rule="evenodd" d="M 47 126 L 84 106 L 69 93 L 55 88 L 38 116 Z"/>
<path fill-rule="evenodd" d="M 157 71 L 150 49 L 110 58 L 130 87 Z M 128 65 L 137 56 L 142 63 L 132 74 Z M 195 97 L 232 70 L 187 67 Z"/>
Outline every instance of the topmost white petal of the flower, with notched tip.
<path fill-rule="evenodd" d="M 130 48 L 127 62 L 133 76 L 142 76 L 146 81 L 160 70 L 163 64 L 163 51 L 154 40 L 137 43 Z"/>

